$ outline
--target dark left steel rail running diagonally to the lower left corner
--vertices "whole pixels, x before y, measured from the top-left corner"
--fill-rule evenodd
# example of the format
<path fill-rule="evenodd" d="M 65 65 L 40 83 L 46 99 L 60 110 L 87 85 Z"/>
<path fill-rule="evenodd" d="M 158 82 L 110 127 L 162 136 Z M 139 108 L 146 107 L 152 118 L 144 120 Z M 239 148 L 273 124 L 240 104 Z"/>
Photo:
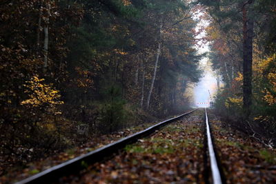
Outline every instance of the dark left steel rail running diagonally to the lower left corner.
<path fill-rule="evenodd" d="M 195 110 L 197 110 L 197 109 L 195 109 Z M 156 125 L 152 125 L 151 127 L 148 127 L 146 130 L 142 130 L 141 132 L 137 132 L 130 136 L 126 136 L 125 138 L 120 139 L 119 141 L 116 141 L 114 143 L 110 143 L 106 146 L 100 147 L 97 150 L 88 152 L 87 154 L 83 154 L 81 156 L 77 156 L 75 159 L 66 161 L 66 162 L 56 165 L 54 167 L 50 167 L 48 170 L 39 172 L 38 174 L 35 174 L 26 179 L 23 179 L 22 181 L 19 181 L 15 184 L 51 183 L 53 181 L 57 181 L 57 179 L 61 178 L 62 176 L 77 173 L 80 170 L 83 170 L 85 168 L 85 165 L 102 161 L 103 159 L 107 158 L 108 156 L 115 154 L 116 152 L 118 152 L 121 148 L 125 147 L 126 145 L 128 145 L 130 143 L 134 143 L 138 139 L 144 138 L 145 136 L 152 134 L 156 130 L 159 130 L 161 127 L 164 127 L 164 125 L 168 125 L 168 123 L 177 121 L 181 117 L 186 116 L 186 115 L 194 112 L 195 110 L 186 112 L 185 114 L 181 114 L 179 116 L 173 117 L 166 121 L 162 121 L 160 123 L 157 123 Z"/>

